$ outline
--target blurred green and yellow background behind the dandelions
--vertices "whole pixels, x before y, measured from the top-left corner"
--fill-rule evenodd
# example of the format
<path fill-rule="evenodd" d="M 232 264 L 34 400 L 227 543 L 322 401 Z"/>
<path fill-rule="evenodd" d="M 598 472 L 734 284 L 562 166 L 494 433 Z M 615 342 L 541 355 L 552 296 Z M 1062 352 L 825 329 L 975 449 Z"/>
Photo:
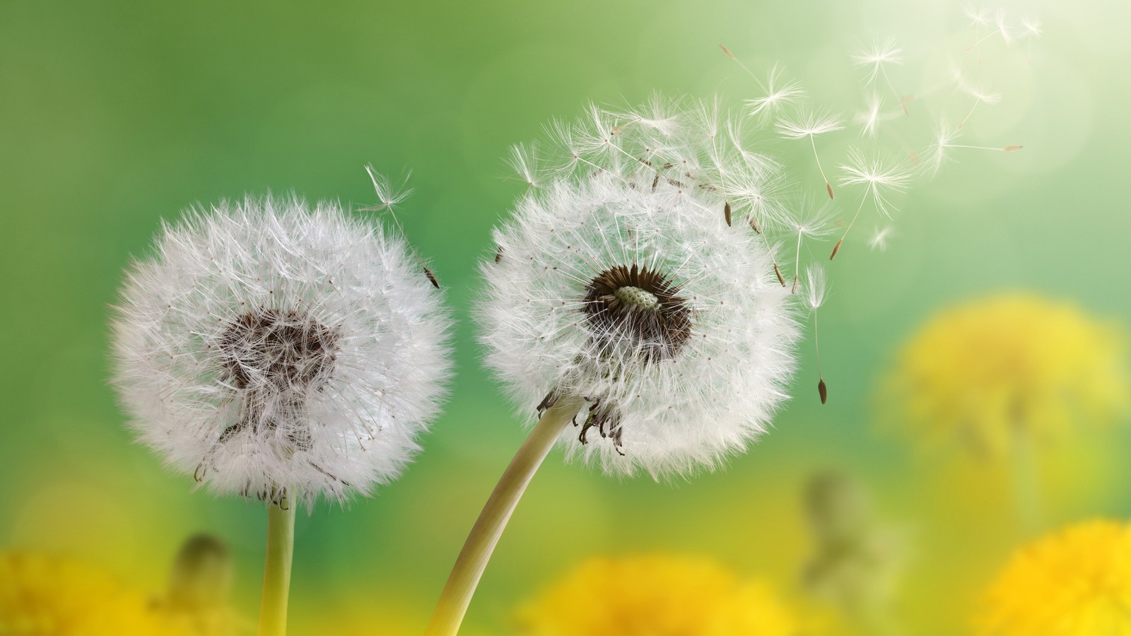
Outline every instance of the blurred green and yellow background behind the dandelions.
<path fill-rule="evenodd" d="M 913 633 L 966 625 L 1016 543 L 995 499 L 1005 489 L 947 481 L 948 469 L 878 431 L 877 379 L 916 325 L 974 295 L 1034 290 L 1122 324 L 1131 316 L 1131 5 L 1017 9 L 1045 33 L 1025 42 L 1002 103 L 979 106 L 962 143 L 1025 149 L 956 153 L 900 198 L 887 252 L 856 243 L 838 258 L 821 320 L 829 404 L 812 388 L 805 343 L 797 397 L 723 472 L 619 481 L 552 456 L 469 627 L 503 631 L 532 591 L 592 555 L 705 553 L 789 593 L 810 550 L 802 484 L 827 466 L 860 476 L 883 515 L 912 528 L 901 613 Z M 490 230 L 525 190 L 508 147 L 588 101 L 756 96 L 719 43 L 759 72 L 784 62 L 817 101 L 851 113 L 862 92 L 849 50 L 897 37 L 898 79 L 917 85 L 940 49 L 961 54 L 967 23 L 941 0 L 0 0 L 0 549 L 72 553 L 157 590 L 180 542 L 207 531 L 233 547 L 235 601 L 253 617 L 262 506 L 193 492 L 132 444 L 107 384 L 107 306 L 130 258 L 185 206 L 267 190 L 370 205 L 363 164 L 411 170 L 400 220 L 456 310 L 459 375 L 403 479 L 346 509 L 300 515 L 292 625 L 297 635 L 348 617 L 421 628 L 529 423 L 481 367 L 469 319 Z M 832 144 L 855 131 L 841 137 Z M 1128 441 L 1123 431 L 1085 440 L 1048 469 L 1053 521 L 1131 514 Z"/>

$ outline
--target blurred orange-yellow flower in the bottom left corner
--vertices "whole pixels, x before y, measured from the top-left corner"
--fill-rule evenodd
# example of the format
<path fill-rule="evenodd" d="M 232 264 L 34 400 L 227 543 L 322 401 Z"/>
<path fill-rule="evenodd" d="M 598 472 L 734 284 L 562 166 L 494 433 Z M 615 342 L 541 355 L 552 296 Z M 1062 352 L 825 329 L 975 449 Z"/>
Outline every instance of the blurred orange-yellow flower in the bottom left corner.
<path fill-rule="evenodd" d="M 83 562 L 0 552 L 0 636 L 217 636 L 232 614 L 178 611 Z"/>

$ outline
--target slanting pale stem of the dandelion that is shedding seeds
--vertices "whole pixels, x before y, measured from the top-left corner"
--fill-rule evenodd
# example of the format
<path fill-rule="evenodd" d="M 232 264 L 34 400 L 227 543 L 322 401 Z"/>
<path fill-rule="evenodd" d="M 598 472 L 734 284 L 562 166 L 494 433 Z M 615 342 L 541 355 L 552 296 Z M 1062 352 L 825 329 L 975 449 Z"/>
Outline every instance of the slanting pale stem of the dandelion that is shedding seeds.
<path fill-rule="evenodd" d="M 448 583 L 443 586 L 440 600 L 432 612 L 425 636 L 455 636 L 464 621 L 464 613 L 472 602 L 475 587 L 487 567 L 491 553 L 499 543 L 502 531 L 510 521 L 510 515 L 518 506 L 518 500 L 534 478 L 534 473 L 546 458 L 550 448 L 570 420 L 581 407 L 582 401 L 575 396 L 563 396 L 551 406 L 535 424 L 529 437 L 503 471 L 502 478 L 491 492 L 480 518 L 475 521 L 464 549 L 460 550 L 456 565 L 451 568 Z"/>

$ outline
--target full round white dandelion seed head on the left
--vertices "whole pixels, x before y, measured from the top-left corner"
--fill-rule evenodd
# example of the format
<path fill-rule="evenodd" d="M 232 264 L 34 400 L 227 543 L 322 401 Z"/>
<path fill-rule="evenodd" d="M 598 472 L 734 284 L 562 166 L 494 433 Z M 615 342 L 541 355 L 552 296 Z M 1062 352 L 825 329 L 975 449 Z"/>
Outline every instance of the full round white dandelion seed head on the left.
<path fill-rule="evenodd" d="M 114 384 L 138 438 L 215 492 L 344 500 L 396 479 L 440 409 L 441 300 L 336 203 L 221 203 L 129 269 Z"/>

